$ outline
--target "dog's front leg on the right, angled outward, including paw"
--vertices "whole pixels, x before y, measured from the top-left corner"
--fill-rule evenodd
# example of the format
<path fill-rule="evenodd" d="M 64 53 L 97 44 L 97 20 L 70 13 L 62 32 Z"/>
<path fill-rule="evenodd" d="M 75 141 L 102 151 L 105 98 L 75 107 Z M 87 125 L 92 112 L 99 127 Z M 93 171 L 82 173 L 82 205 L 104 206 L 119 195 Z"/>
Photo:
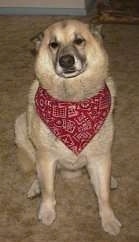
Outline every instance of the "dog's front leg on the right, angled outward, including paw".
<path fill-rule="evenodd" d="M 104 231 L 116 235 L 121 224 L 115 217 L 109 201 L 111 158 L 110 154 L 93 157 L 88 163 L 88 172 L 98 197 L 99 214 Z"/>

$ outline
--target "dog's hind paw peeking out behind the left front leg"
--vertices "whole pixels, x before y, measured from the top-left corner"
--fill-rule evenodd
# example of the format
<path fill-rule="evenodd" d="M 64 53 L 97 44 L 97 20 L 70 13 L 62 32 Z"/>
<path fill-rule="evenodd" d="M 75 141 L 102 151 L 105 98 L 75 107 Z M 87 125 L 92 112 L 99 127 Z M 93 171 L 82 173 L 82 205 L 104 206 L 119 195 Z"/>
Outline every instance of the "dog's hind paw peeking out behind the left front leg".
<path fill-rule="evenodd" d="M 39 181 L 35 179 L 28 191 L 27 197 L 32 199 L 37 195 L 39 195 L 40 193 L 41 193 L 41 190 L 40 190 Z"/>

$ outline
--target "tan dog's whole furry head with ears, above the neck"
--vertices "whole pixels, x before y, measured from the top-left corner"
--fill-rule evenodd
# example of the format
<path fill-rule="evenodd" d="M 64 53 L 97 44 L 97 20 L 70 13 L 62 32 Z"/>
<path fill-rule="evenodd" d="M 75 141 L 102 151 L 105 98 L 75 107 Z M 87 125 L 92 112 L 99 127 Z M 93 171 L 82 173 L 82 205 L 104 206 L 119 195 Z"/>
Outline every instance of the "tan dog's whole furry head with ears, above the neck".
<path fill-rule="evenodd" d="M 65 20 L 35 36 L 32 40 L 37 50 L 38 79 L 44 84 L 47 79 L 70 82 L 73 78 L 74 81 L 88 77 L 93 80 L 100 73 L 104 75 L 107 55 L 99 30 L 100 27 L 90 28 L 77 20 Z"/>

